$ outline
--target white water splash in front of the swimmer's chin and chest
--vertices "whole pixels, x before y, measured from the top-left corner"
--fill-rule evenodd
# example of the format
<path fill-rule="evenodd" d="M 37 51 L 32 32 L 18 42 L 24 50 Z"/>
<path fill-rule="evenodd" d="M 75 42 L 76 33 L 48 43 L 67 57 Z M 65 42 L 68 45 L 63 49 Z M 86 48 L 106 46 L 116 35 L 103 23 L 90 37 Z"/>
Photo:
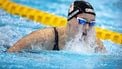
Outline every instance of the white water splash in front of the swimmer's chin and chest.
<path fill-rule="evenodd" d="M 88 30 L 87 35 L 83 35 L 81 26 L 75 38 L 66 43 L 65 49 L 78 53 L 94 53 L 97 47 L 95 36 L 94 28 Z"/>

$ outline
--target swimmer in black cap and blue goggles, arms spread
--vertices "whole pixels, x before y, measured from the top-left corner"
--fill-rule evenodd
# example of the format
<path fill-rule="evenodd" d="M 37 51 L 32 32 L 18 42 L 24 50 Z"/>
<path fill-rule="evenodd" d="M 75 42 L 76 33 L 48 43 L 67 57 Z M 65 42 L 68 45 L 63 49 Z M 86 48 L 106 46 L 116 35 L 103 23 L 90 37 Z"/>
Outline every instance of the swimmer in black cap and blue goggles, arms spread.
<path fill-rule="evenodd" d="M 86 1 L 74 1 L 68 11 L 66 27 L 48 27 L 24 36 L 11 46 L 8 52 L 19 52 L 23 49 L 64 50 L 68 42 L 76 36 L 84 42 L 84 47 L 93 47 L 94 52 L 105 52 L 102 41 L 96 38 L 95 12 L 92 5 Z M 82 43 L 81 43 L 82 44 Z M 91 46 L 91 44 L 96 44 Z"/>

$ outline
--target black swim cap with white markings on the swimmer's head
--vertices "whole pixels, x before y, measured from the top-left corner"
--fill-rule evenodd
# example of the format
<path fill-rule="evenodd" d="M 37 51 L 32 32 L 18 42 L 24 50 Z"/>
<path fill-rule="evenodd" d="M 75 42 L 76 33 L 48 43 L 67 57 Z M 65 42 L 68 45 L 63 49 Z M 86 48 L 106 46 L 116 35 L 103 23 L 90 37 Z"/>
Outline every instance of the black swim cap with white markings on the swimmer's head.
<path fill-rule="evenodd" d="M 68 21 L 79 13 L 89 13 L 96 15 L 94 12 L 94 8 L 90 3 L 83 0 L 74 1 L 74 3 L 71 4 L 68 12 Z"/>

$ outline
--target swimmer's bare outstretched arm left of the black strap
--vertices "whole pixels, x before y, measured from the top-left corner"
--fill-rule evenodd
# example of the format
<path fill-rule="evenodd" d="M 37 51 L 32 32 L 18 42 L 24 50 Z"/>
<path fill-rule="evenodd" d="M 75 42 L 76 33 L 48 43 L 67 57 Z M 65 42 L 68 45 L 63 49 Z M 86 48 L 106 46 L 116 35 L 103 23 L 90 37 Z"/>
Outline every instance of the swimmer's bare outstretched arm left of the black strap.
<path fill-rule="evenodd" d="M 10 47 L 7 51 L 8 52 L 18 52 L 23 48 L 29 46 L 31 43 L 34 42 L 44 42 L 45 40 L 53 39 L 53 29 L 47 28 L 43 30 L 37 30 L 32 32 L 31 34 L 23 37 L 19 41 L 17 41 L 12 47 Z"/>

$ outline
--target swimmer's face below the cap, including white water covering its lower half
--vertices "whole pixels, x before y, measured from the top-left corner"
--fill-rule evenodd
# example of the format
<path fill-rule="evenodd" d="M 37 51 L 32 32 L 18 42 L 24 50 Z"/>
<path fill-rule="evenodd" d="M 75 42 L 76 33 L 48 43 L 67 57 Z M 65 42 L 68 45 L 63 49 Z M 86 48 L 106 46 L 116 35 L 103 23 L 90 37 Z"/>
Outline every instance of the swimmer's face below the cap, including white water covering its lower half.
<path fill-rule="evenodd" d="M 81 18 L 80 22 L 83 22 L 82 19 L 84 19 L 87 23 L 85 23 L 85 21 L 84 24 L 79 23 L 78 17 Z M 96 33 L 93 29 L 94 26 L 89 24 L 92 23 L 92 21 L 95 21 L 95 16 L 86 13 L 78 14 L 68 21 L 68 36 L 71 38 L 69 39 L 69 46 L 72 47 L 73 50 L 90 50 L 90 47 L 95 44 Z M 86 36 L 83 35 L 83 33 L 86 33 Z"/>

